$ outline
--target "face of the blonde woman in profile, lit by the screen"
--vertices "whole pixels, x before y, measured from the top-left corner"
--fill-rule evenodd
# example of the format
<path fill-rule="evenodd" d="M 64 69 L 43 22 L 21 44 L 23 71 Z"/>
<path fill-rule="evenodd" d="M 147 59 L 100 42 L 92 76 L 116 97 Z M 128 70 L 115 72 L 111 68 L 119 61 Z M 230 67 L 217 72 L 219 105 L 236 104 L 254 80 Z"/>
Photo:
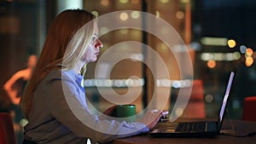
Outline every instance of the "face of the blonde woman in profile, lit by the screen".
<path fill-rule="evenodd" d="M 98 26 L 94 24 L 94 32 L 92 35 L 91 43 L 83 57 L 84 62 L 93 62 L 97 60 L 97 55 L 100 54 L 100 49 L 103 47 L 101 40 L 98 38 Z"/>

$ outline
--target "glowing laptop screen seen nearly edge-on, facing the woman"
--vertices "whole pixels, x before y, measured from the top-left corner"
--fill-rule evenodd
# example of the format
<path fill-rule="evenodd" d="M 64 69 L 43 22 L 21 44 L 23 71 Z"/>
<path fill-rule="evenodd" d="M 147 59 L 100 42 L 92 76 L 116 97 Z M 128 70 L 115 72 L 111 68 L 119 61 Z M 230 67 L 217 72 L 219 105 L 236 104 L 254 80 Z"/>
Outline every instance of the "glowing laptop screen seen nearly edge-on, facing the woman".
<path fill-rule="evenodd" d="M 223 102 L 222 102 L 222 105 L 221 105 L 221 108 L 220 108 L 220 112 L 219 112 L 219 121 L 220 122 L 223 121 L 224 112 L 225 112 L 227 101 L 228 101 L 228 98 L 229 98 L 229 95 L 230 95 L 230 89 L 231 89 L 231 85 L 232 85 L 234 76 L 235 76 L 235 72 L 231 72 L 229 83 L 227 85 L 227 88 L 226 88 L 226 91 L 225 91 L 225 94 L 224 94 L 224 99 L 223 99 Z"/>

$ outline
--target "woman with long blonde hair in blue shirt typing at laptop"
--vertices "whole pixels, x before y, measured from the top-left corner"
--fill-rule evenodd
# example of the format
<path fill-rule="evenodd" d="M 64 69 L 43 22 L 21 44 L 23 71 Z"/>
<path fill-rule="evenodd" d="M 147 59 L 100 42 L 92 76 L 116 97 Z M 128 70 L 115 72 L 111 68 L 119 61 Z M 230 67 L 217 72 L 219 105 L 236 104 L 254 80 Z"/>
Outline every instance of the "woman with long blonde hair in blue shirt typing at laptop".
<path fill-rule="evenodd" d="M 146 132 L 160 118 L 161 112 L 154 112 L 144 117 L 143 123 L 126 123 L 100 119 L 90 112 L 82 81 L 86 64 L 95 61 L 102 48 L 93 20 L 84 10 L 65 10 L 50 26 L 21 100 L 28 119 L 24 143 L 85 143 L 87 138 L 112 141 Z M 154 121 L 148 123 L 148 117 Z"/>

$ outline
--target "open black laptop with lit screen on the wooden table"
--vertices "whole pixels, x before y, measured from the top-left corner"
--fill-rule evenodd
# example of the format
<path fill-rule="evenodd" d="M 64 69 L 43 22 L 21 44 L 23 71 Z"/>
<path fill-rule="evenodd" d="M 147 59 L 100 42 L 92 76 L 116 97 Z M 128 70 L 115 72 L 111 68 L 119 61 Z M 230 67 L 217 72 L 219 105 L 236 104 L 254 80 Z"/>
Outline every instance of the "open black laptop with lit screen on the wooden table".
<path fill-rule="evenodd" d="M 227 84 L 224 99 L 222 101 L 218 120 L 203 122 L 159 122 L 154 130 L 150 130 L 148 135 L 153 137 L 204 137 L 213 138 L 220 134 L 221 126 L 224 121 L 224 113 L 230 96 L 230 89 L 236 72 L 230 72 L 229 82 Z"/>

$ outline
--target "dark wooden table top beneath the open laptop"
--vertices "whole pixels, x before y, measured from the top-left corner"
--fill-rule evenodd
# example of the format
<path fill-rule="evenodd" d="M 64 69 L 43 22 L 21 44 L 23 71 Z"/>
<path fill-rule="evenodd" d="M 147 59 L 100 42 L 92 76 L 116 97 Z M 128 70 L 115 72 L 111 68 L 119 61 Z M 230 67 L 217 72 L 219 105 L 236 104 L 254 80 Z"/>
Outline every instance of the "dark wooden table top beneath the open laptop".
<path fill-rule="evenodd" d="M 222 130 L 224 132 L 232 130 L 231 135 L 247 135 L 249 132 L 256 131 L 256 123 L 241 120 L 225 120 Z M 138 135 L 117 139 L 113 141 L 113 144 L 253 144 L 255 141 L 256 135 L 252 137 L 219 135 L 216 138 L 153 138 L 149 135 Z"/>

